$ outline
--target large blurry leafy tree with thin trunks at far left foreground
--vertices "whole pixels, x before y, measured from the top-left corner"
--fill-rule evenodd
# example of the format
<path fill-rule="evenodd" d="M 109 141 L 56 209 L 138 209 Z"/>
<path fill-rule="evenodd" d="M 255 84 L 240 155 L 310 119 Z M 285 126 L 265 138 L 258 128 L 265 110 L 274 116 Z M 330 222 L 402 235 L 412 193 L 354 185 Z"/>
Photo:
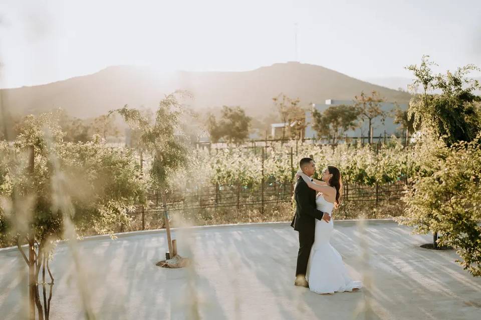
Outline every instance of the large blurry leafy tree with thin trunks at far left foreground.
<path fill-rule="evenodd" d="M 64 135 L 55 114 L 31 115 L 13 147 L 0 145 L 0 241 L 16 244 L 29 266 L 31 319 L 35 306 L 40 319 L 49 317 L 45 270 L 52 285 L 49 260 L 56 241 L 68 239 L 76 256 L 78 234 L 90 229 L 109 233 L 118 222 L 128 223 L 127 210 L 143 190 L 129 152 L 104 148 L 99 136 L 73 143 L 65 142 Z"/>

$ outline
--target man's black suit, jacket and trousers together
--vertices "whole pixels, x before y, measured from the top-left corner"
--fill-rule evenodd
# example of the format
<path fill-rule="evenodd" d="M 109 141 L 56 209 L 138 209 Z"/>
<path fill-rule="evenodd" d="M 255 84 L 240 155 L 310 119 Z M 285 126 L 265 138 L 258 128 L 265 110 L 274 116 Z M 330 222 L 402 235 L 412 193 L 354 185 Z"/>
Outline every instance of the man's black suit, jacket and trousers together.
<path fill-rule="evenodd" d="M 324 212 L 316 209 L 316 190 L 311 189 L 302 177 L 299 177 L 294 191 L 296 215 L 291 226 L 299 231 L 299 253 L 297 255 L 296 276 L 305 275 L 307 262 L 314 243 L 315 219 L 322 219 Z"/>

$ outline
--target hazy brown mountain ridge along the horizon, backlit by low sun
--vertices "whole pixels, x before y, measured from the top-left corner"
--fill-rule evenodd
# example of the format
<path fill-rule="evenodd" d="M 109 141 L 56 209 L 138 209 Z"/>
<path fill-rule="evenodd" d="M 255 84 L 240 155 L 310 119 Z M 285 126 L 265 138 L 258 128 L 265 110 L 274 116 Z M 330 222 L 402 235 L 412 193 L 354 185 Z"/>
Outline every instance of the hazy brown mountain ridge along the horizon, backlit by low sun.
<path fill-rule="evenodd" d="M 324 100 L 353 99 L 361 90 L 377 90 L 388 101 L 407 103 L 406 92 L 365 82 L 309 63 L 286 62 L 249 71 L 158 72 L 151 67 L 115 65 L 51 83 L 1 89 L 3 106 L 28 114 L 64 108 L 81 118 L 98 116 L 125 104 L 154 107 L 177 89 L 193 93 L 190 106 L 199 112 L 222 105 L 240 105 L 253 116 L 276 111 L 279 93 L 299 97 L 303 106 Z"/>

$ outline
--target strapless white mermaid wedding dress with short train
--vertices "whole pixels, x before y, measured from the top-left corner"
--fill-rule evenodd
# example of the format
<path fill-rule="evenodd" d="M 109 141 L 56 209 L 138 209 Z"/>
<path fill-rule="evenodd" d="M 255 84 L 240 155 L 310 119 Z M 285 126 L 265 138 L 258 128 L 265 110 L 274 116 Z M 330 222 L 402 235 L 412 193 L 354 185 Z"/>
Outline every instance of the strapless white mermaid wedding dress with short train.
<path fill-rule="evenodd" d="M 331 215 L 334 204 L 326 201 L 324 196 L 316 197 L 317 209 Z M 334 223 L 316 220 L 314 244 L 307 264 L 306 280 L 309 288 L 316 293 L 334 293 L 352 291 L 361 288 L 361 281 L 353 281 L 339 252 L 329 243 Z"/>

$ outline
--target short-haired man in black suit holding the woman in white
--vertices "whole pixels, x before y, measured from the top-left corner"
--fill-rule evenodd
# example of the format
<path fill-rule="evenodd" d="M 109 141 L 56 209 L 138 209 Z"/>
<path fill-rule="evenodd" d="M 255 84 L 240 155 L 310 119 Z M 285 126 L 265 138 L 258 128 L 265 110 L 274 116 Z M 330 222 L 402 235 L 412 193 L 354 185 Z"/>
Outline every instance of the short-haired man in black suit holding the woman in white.
<path fill-rule="evenodd" d="M 311 158 L 302 158 L 299 166 L 302 172 L 308 176 L 314 175 L 316 171 L 316 164 Z M 291 226 L 294 227 L 294 230 L 299 231 L 299 253 L 294 284 L 309 287 L 305 275 L 311 247 L 314 243 L 315 219 L 324 219 L 329 222 L 331 217 L 328 213 L 316 209 L 316 191 L 311 189 L 302 177 L 297 180 L 294 197 L 296 199 L 296 215 L 292 219 Z"/>

